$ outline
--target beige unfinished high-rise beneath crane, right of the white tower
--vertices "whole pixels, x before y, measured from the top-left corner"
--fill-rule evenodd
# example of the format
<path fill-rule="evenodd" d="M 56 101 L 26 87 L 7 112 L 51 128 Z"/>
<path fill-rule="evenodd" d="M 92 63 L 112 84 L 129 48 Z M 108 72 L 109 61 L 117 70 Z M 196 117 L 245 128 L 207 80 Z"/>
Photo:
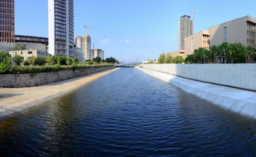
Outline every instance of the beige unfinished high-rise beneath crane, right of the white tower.
<path fill-rule="evenodd" d="M 76 36 L 75 38 L 75 45 L 78 48 L 82 49 L 82 53 L 84 54 L 85 60 L 88 60 L 87 54 L 91 49 L 91 38 L 89 35 L 87 37 L 84 36 Z"/>

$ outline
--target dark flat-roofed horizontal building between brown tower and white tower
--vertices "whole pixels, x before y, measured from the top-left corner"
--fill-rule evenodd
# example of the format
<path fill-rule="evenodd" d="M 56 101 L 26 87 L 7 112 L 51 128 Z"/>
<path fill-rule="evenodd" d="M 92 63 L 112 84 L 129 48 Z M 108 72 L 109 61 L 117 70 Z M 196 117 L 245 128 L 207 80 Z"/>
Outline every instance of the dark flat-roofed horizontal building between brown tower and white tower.
<path fill-rule="evenodd" d="M 26 43 L 41 43 L 48 46 L 48 38 L 43 37 L 33 37 L 25 35 L 15 35 L 15 42 L 26 42 Z"/>

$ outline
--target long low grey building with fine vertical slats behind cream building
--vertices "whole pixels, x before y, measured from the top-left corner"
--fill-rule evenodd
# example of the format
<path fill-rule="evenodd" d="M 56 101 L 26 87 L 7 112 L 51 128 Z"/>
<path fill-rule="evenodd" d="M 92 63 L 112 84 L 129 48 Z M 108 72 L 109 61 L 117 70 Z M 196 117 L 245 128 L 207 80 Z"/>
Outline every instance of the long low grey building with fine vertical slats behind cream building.
<path fill-rule="evenodd" d="M 12 51 L 17 43 L 14 42 L 0 42 L 0 51 Z M 46 45 L 41 43 L 28 43 L 28 42 L 19 42 L 20 45 L 25 44 L 26 49 L 36 49 L 43 52 L 47 52 Z"/>

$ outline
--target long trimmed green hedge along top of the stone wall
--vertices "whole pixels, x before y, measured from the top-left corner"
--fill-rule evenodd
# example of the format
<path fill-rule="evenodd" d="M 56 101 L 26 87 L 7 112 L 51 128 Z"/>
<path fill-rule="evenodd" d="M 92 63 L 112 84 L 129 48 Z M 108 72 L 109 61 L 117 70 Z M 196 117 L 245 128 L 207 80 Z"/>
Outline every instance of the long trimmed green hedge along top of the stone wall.
<path fill-rule="evenodd" d="M 47 66 L 14 66 L 11 67 L 7 74 L 21 74 L 21 73 L 47 73 L 64 70 L 87 69 L 92 67 L 108 67 L 114 65 L 47 65 Z"/>

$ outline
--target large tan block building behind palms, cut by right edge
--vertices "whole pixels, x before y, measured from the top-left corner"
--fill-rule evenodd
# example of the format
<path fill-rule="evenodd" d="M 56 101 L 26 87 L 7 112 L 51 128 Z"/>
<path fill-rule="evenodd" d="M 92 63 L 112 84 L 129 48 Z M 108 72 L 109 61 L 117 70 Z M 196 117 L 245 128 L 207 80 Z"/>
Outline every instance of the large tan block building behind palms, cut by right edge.
<path fill-rule="evenodd" d="M 208 29 L 212 45 L 223 42 L 240 42 L 242 45 L 255 45 L 256 18 L 251 16 L 240 17 Z"/>

